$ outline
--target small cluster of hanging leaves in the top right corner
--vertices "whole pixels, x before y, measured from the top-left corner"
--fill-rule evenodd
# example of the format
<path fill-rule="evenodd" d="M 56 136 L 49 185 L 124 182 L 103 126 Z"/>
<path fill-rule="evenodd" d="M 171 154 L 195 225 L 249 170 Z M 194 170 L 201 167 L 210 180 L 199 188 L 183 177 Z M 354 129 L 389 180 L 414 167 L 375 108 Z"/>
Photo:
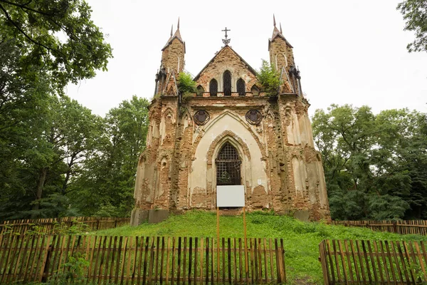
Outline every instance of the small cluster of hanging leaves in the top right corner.
<path fill-rule="evenodd" d="M 404 15 L 405 30 L 415 32 L 415 40 L 406 47 L 408 51 L 427 51 L 427 1 L 405 0 L 397 9 Z"/>

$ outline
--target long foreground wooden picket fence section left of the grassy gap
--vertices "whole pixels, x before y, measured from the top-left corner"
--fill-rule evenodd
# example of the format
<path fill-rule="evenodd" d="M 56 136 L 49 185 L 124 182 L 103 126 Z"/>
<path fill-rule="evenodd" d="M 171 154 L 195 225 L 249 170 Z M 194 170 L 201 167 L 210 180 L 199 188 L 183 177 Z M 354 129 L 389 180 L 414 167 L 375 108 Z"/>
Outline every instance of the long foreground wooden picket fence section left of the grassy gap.
<path fill-rule="evenodd" d="M 84 258 L 97 284 L 280 284 L 283 239 L 0 236 L 0 283 L 46 281 Z"/>

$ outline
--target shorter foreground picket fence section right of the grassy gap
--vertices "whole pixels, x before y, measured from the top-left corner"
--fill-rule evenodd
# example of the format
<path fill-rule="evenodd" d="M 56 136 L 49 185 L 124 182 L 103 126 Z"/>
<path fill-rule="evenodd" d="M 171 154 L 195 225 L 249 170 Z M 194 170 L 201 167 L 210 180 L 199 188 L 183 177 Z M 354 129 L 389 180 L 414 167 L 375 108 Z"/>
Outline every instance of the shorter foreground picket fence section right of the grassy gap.
<path fill-rule="evenodd" d="M 320 262 L 329 284 L 426 284 L 426 242 L 324 240 Z"/>

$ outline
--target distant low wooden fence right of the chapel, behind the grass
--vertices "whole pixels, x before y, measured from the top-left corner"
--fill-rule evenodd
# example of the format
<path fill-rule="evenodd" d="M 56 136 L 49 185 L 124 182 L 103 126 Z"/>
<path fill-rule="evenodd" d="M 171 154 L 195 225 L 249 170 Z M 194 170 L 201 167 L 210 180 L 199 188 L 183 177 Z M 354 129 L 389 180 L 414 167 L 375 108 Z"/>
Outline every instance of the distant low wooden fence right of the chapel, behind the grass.
<path fill-rule="evenodd" d="M 346 227 L 367 227 L 374 231 L 394 232 L 396 234 L 427 235 L 426 220 L 407 221 L 332 221 L 332 224 L 341 224 Z"/>

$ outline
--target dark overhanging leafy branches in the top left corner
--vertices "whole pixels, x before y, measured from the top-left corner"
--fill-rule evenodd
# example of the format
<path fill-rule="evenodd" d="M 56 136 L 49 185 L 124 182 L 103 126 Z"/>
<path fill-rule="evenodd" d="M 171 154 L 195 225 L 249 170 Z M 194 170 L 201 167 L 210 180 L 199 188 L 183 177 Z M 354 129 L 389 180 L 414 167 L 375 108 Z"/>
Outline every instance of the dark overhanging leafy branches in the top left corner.
<path fill-rule="evenodd" d="M 100 28 L 90 19 L 84 0 L 0 0 L 1 38 L 14 39 L 20 64 L 46 69 L 51 87 L 93 78 L 112 57 Z"/>

